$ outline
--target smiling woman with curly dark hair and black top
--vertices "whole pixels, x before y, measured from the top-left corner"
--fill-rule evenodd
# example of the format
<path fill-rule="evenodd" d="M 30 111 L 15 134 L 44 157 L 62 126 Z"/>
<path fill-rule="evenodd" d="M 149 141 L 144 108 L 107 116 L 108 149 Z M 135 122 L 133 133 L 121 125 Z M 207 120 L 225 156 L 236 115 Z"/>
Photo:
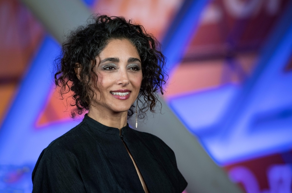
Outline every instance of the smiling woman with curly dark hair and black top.
<path fill-rule="evenodd" d="M 158 45 L 123 17 L 100 15 L 69 34 L 55 83 L 61 94 L 74 93 L 73 118 L 88 114 L 41 152 L 32 192 L 183 192 L 173 151 L 127 124 L 135 112 L 137 127 L 163 94 Z"/>

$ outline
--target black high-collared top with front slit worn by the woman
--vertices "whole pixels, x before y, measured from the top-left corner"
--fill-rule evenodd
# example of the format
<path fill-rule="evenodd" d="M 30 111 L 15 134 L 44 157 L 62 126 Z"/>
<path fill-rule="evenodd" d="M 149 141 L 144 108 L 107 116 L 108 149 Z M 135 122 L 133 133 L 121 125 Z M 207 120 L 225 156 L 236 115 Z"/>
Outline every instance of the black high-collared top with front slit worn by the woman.
<path fill-rule="evenodd" d="M 45 148 L 32 172 L 32 192 L 142 192 L 135 160 L 149 192 L 183 192 L 187 182 L 174 152 L 158 137 L 83 121 Z"/>

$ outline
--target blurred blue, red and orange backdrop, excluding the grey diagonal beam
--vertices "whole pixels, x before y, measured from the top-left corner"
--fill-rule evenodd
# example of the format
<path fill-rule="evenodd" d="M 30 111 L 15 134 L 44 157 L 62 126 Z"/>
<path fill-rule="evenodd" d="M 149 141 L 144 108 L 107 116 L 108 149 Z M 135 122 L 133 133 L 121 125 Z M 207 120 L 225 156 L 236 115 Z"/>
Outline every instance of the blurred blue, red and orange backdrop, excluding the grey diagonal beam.
<path fill-rule="evenodd" d="M 82 1 L 158 38 L 169 56 L 164 101 L 230 180 L 291 193 L 292 1 L 192 2 Z M 25 4 L 0 0 L 0 192 L 31 192 L 41 150 L 81 121 L 52 82 L 59 51 Z"/>

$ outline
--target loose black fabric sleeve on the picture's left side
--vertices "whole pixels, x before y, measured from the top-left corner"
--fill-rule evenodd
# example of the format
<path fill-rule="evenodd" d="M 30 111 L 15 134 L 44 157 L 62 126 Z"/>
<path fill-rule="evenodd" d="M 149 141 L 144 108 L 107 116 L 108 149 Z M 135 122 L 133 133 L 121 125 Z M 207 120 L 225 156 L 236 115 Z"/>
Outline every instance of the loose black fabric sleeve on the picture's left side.
<path fill-rule="evenodd" d="M 32 193 L 86 192 L 75 155 L 58 144 L 41 152 L 32 172 L 32 183 Z"/>

